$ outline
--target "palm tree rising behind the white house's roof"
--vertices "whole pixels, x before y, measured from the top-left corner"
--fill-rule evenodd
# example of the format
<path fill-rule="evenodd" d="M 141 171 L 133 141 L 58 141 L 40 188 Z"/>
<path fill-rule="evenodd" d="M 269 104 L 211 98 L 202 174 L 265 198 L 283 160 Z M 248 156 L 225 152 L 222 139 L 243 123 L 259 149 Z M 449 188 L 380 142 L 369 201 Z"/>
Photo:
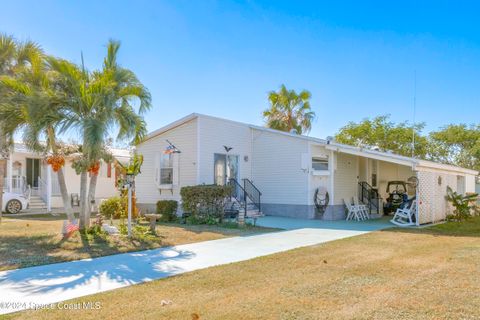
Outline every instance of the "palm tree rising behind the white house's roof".
<path fill-rule="evenodd" d="M 298 134 L 308 133 L 312 127 L 315 112 L 310 107 L 311 94 L 307 90 L 296 93 L 285 85 L 279 91 L 268 94 L 270 108 L 263 112 L 267 127 Z"/>

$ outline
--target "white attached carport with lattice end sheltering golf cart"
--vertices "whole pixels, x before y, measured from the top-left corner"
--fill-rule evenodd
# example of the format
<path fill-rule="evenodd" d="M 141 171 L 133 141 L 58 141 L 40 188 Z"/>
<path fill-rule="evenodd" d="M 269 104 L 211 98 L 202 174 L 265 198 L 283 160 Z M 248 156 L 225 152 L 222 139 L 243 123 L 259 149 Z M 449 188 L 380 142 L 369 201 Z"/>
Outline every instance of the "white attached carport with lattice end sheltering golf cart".
<path fill-rule="evenodd" d="M 447 186 L 460 194 L 475 192 L 475 170 L 337 143 L 329 143 L 326 148 L 334 152 L 337 212 L 344 210 L 342 199 L 358 197 L 364 202 L 377 201 L 372 213 L 382 216 L 388 182 L 416 180 L 407 184 L 406 190 L 409 198 L 417 199 L 416 224 L 435 223 L 451 212 L 445 199 Z M 362 198 L 362 188 L 363 193 L 365 188 L 367 193 L 378 193 L 379 199 Z"/>

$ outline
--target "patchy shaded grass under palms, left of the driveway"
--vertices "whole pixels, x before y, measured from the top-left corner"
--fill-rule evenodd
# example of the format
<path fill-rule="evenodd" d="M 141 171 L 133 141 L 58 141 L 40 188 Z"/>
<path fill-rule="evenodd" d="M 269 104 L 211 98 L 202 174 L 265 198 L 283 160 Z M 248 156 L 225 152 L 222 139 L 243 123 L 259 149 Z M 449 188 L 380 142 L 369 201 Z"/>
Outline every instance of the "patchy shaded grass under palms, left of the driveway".
<path fill-rule="evenodd" d="M 5 217 L 0 224 L 0 270 L 99 257 L 128 251 L 178 245 L 237 235 L 271 231 L 261 227 L 232 228 L 165 223 L 157 225 L 158 237 L 129 240 L 125 236 L 60 234 L 64 217 L 35 215 Z M 118 224 L 118 221 L 115 221 Z"/>

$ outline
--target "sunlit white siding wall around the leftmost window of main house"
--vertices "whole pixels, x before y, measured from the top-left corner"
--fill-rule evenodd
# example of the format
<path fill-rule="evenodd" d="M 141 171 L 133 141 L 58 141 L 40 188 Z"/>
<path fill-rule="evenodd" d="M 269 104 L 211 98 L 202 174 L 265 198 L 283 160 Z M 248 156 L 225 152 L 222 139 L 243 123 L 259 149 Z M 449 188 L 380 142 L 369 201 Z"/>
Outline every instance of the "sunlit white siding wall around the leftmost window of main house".
<path fill-rule="evenodd" d="M 176 172 L 179 183 L 173 187 L 173 192 L 162 190 L 160 194 L 154 180 L 156 159 L 168 146 L 167 139 L 181 151 L 175 155 L 179 157 L 179 168 Z M 158 200 L 180 200 L 180 188 L 195 185 L 197 182 L 197 119 L 145 141 L 138 146 L 137 151 L 144 157 L 142 173 L 135 180 L 138 203 L 154 204 Z"/>

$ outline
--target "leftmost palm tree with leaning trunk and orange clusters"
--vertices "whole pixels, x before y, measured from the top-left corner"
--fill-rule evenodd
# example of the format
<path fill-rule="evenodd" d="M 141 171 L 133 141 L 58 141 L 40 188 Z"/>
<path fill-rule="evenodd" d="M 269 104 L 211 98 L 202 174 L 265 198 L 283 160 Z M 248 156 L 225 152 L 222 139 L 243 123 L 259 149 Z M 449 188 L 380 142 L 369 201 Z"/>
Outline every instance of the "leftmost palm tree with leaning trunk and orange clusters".
<path fill-rule="evenodd" d="M 37 44 L 26 42 L 16 46 L 17 55 L 22 57 L 23 62 L 16 66 L 15 72 L 5 73 L 0 79 L 5 97 L 0 106 L 3 134 L 11 137 L 12 141 L 13 135 L 23 130 L 23 140 L 30 149 L 51 153 L 51 158 L 63 160 L 58 148 L 57 131 L 68 110 L 65 99 L 56 90 L 55 74 L 48 68 L 45 54 Z M 39 142 L 42 136 L 45 136 L 46 144 Z M 63 168 L 61 165 L 52 165 L 52 168 L 57 173 L 65 212 L 72 221 L 74 214 Z"/>

